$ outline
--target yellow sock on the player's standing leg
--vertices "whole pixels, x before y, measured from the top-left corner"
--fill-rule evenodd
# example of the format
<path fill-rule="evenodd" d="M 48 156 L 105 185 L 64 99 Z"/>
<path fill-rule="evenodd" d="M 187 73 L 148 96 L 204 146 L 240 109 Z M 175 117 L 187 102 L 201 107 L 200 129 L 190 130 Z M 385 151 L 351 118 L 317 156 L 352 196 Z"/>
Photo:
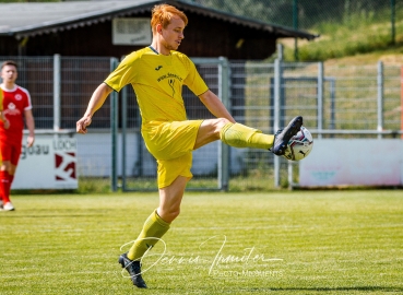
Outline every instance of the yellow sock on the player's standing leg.
<path fill-rule="evenodd" d="M 133 246 L 131 246 L 128 252 L 128 258 L 131 260 L 142 258 L 145 251 L 150 247 L 153 247 L 158 241 L 158 238 L 162 238 L 164 234 L 168 232 L 169 225 L 169 223 L 159 217 L 156 210 L 151 213 L 144 222 L 143 229 L 139 237 L 134 241 Z"/>

